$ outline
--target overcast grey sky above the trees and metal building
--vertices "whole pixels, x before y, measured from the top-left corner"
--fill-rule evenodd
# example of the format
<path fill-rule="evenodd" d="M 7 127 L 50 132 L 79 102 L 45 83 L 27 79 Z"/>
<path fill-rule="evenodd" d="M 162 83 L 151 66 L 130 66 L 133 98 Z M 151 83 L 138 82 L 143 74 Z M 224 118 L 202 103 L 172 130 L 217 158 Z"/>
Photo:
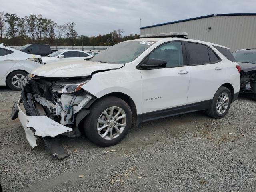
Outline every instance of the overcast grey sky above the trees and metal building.
<path fill-rule="evenodd" d="M 57 24 L 75 22 L 78 35 L 97 36 L 114 29 L 124 35 L 141 26 L 215 13 L 256 12 L 255 0 L 8 0 L 0 11 L 19 17 L 42 14 Z M 4 2 L 4 3 L 3 3 Z"/>

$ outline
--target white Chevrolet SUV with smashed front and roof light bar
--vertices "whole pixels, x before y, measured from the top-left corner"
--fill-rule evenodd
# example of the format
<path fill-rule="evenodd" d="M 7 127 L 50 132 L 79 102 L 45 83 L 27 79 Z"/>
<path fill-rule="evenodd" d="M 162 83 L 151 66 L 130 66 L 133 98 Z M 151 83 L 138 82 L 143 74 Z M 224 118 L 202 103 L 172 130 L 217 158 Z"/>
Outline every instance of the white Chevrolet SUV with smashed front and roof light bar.
<path fill-rule="evenodd" d="M 79 128 L 95 144 L 111 146 L 140 122 L 198 110 L 224 117 L 240 84 L 230 50 L 181 32 L 150 36 L 89 61 L 44 65 L 25 78 L 12 118 L 20 118 L 31 146 L 37 136 L 79 136 Z"/>

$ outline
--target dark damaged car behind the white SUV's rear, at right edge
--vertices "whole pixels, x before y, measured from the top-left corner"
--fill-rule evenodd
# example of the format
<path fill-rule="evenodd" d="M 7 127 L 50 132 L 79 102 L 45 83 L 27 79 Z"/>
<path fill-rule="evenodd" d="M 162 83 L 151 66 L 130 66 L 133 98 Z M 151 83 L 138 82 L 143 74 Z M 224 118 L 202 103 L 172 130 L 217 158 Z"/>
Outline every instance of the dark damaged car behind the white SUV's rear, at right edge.
<path fill-rule="evenodd" d="M 252 94 L 256 100 L 256 49 L 240 49 L 232 54 L 241 66 L 240 93 Z"/>

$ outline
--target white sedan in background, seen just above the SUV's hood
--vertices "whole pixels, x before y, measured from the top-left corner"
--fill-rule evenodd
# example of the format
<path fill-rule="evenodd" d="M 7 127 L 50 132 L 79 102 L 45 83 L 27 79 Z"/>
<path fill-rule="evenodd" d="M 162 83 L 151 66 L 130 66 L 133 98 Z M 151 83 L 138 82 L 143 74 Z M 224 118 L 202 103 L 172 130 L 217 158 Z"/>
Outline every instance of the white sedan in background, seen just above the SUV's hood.
<path fill-rule="evenodd" d="M 85 51 L 80 50 L 58 50 L 51 53 L 46 57 L 42 57 L 44 64 L 49 64 L 56 61 L 65 60 L 77 60 L 77 59 L 89 59 L 93 56 Z"/>

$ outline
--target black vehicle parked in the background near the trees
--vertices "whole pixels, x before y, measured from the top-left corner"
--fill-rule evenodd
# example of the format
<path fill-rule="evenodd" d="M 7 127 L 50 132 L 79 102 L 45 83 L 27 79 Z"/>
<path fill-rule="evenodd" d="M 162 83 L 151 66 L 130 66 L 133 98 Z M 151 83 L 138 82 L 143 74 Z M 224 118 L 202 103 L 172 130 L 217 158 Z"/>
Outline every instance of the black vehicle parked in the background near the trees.
<path fill-rule="evenodd" d="M 26 44 L 19 48 L 19 50 L 28 54 L 35 54 L 40 56 L 47 56 L 52 53 L 50 45 L 47 44 Z"/>

